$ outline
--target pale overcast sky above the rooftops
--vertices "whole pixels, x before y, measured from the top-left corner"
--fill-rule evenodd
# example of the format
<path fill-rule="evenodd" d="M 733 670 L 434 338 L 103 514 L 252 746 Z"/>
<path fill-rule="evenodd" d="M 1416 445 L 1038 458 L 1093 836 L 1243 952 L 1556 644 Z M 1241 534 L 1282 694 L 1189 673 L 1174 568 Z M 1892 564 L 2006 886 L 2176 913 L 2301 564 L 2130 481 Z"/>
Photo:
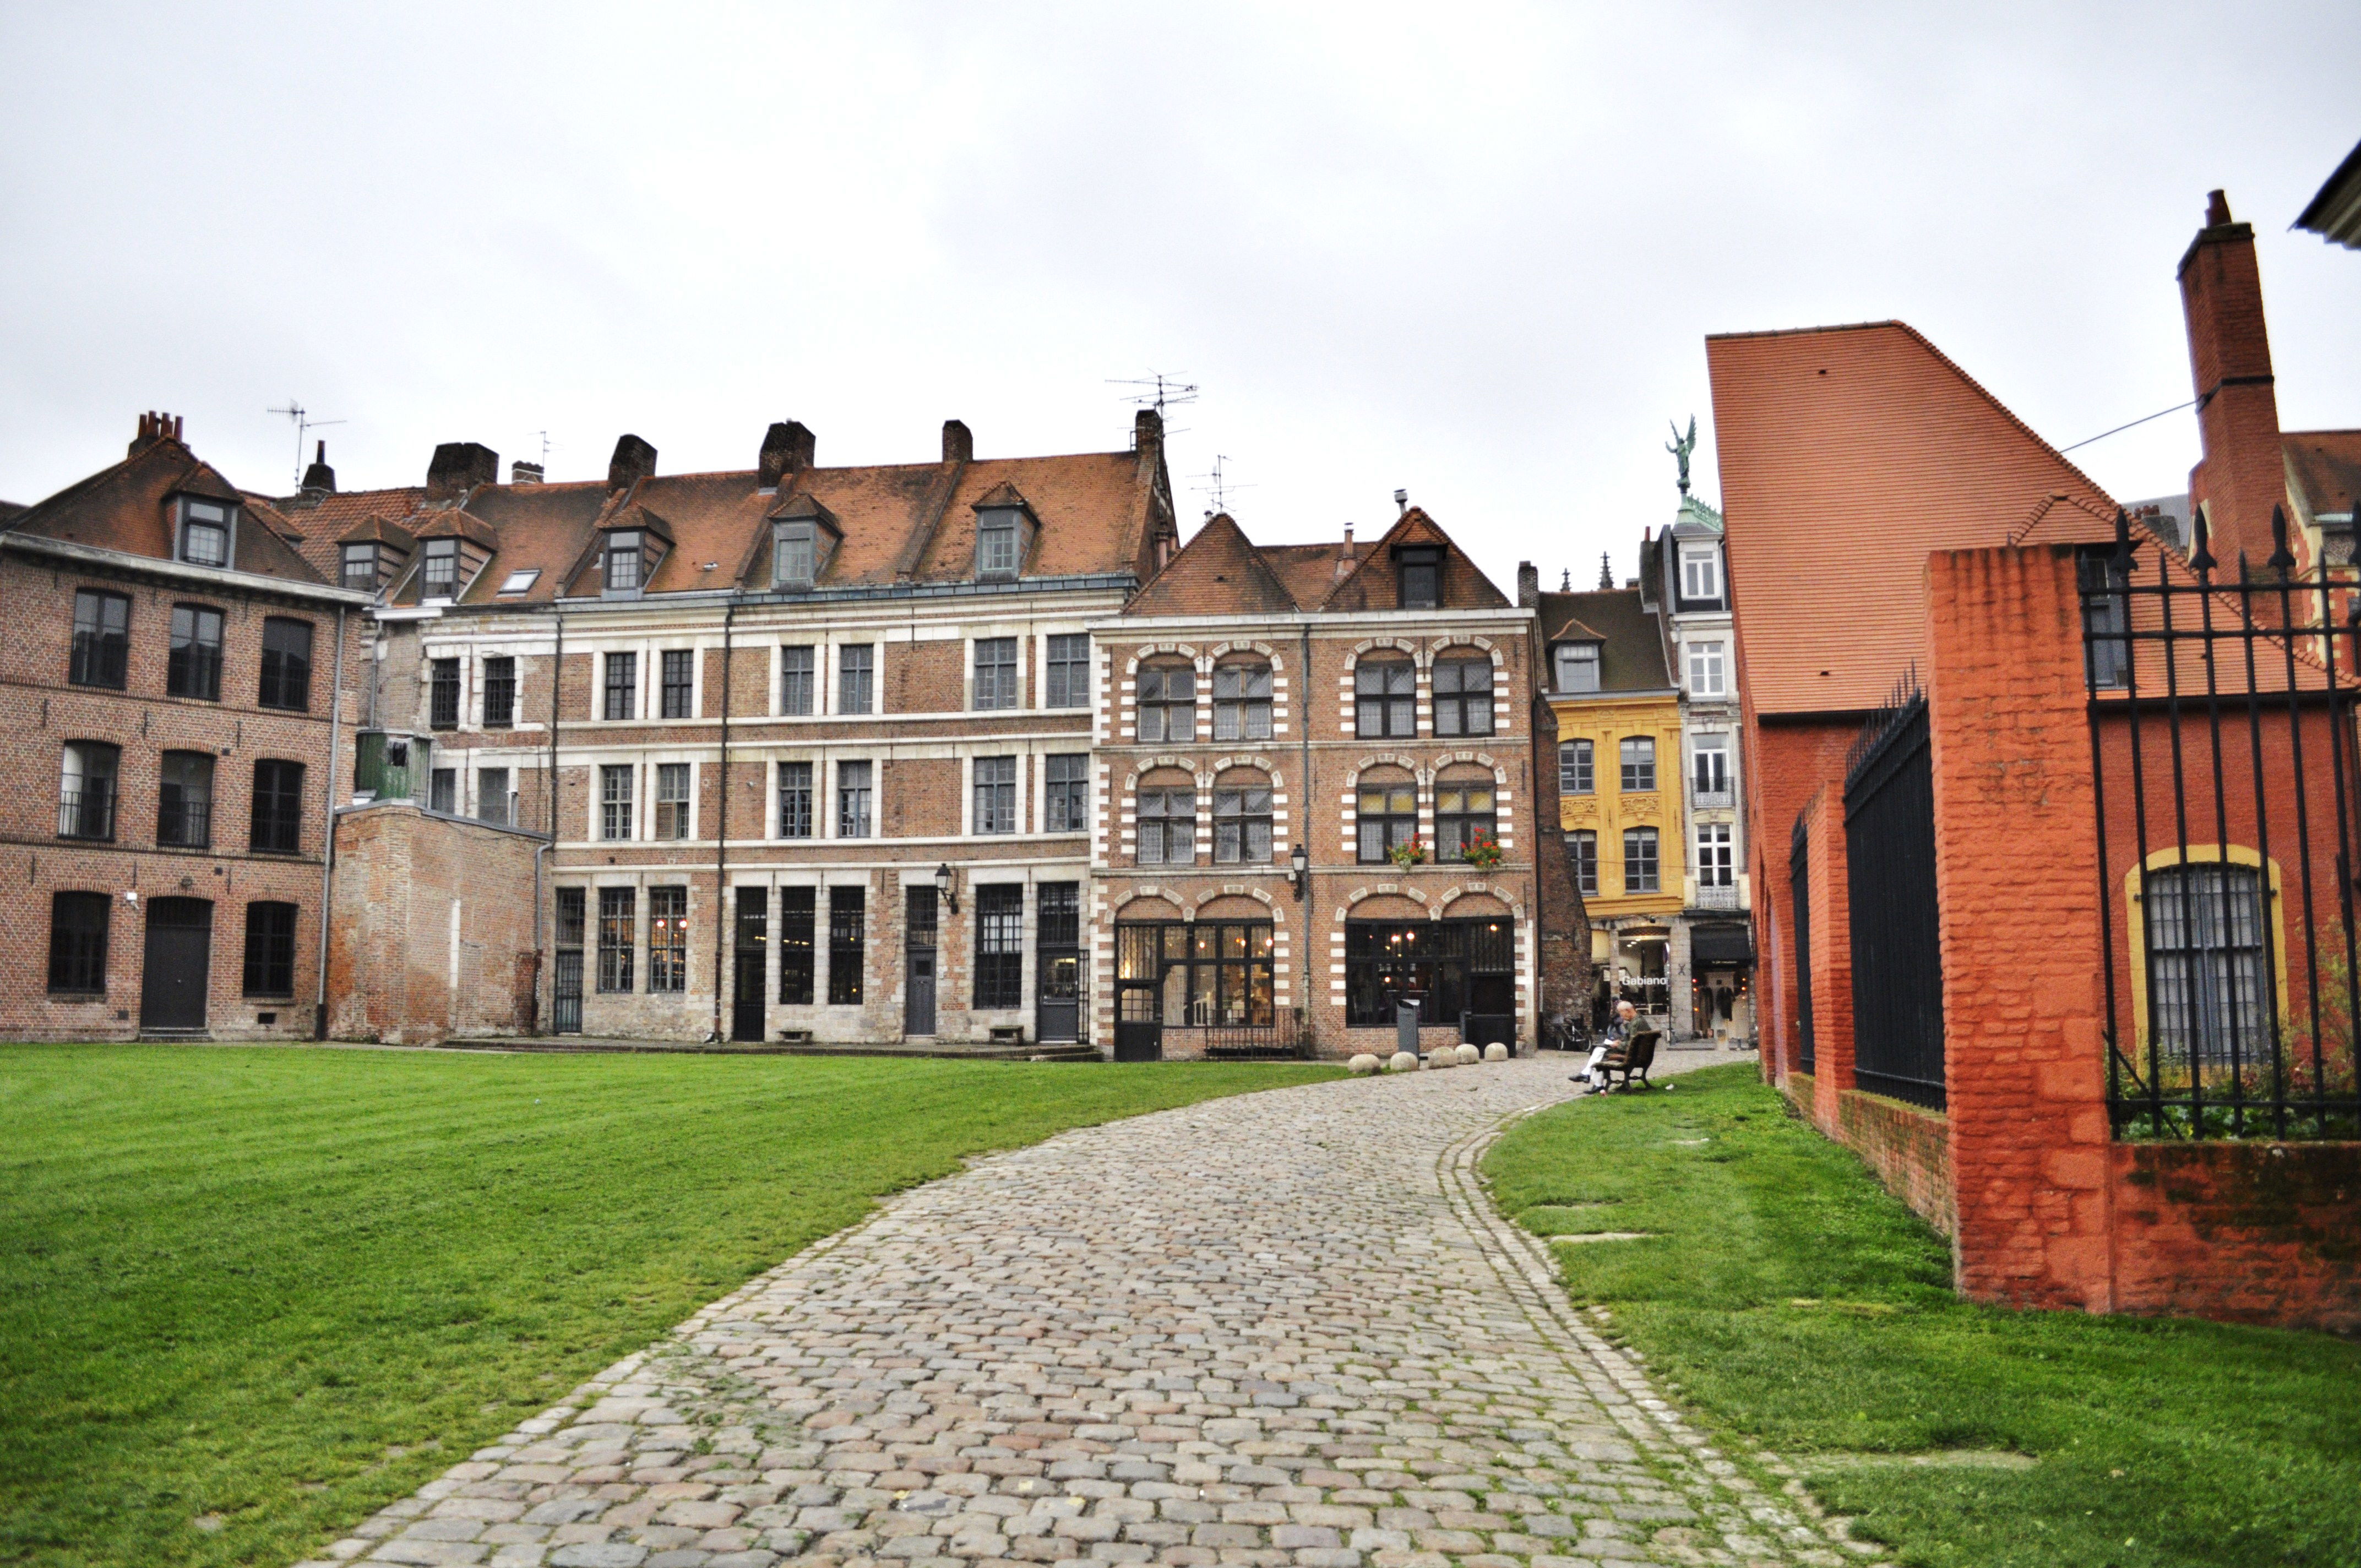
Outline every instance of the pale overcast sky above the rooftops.
<path fill-rule="evenodd" d="M 0 496 L 142 409 L 283 491 L 437 442 L 602 475 L 1117 449 L 1256 538 L 1402 486 L 1502 586 L 1634 569 L 1702 338 L 1901 316 L 2056 444 L 2189 397 L 2226 187 L 2278 406 L 2361 425 L 2361 5 L 99 7 L 0 0 Z M 2075 453 L 2177 491 L 2177 413 Z"/>

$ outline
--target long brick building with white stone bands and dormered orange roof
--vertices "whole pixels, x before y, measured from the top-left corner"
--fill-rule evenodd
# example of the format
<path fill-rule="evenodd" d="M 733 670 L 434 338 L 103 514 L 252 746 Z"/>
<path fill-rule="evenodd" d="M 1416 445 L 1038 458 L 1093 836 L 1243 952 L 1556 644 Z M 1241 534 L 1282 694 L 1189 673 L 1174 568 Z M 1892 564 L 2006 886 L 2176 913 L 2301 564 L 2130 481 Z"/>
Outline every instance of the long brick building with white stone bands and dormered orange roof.
<path fill-rule="evenodd" d="M 423 486 L 323 475 L 286 515 L 378 600 L 357 789 L 413 819 L 347 855 L 430 881 L 380 923 L 425 952 L 378 961 L 423 1001 L 357 1004 L 352 1032 L 1081 1034 L 1088 628 L 1176 543 L 1155 413 L 1048 458 L 977 458 L 949 420 L 940 458 L 874 468 L 819 468 L 798 423 L 704 475 L 623 437 L 574 484 L 449 444 Z M 550 848 L 453 850 L 486 827 Z M 432 867 L 467 867 L 465 897 Z M 449 1006 L 465 963 L 505 1015 Z"/>

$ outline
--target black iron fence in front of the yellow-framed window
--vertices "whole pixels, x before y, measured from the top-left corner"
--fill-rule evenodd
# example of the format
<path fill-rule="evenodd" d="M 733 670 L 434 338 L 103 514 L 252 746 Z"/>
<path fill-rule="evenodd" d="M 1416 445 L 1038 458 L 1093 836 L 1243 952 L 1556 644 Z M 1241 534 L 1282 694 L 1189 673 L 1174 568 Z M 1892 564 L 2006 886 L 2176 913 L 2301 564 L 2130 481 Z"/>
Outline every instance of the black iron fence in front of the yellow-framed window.
<path fill-rule="evenodd" d="M 2120 1138 L 2361 1138 L 2349 567 L 2080 557 Z M 2342 581 L 2337 581 L 2342 579 Z M 2340 612 L 2342 609 L 2342 612 Z"/>

